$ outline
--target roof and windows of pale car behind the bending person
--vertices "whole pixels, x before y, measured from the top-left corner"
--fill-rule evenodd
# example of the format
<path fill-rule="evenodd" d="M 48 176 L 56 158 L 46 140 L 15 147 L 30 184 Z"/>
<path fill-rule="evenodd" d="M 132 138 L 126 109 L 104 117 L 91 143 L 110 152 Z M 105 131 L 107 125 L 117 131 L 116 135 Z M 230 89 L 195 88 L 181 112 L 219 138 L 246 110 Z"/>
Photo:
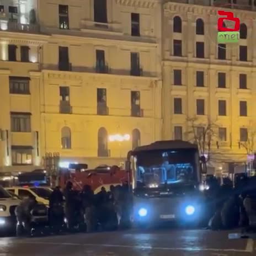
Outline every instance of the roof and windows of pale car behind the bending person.
<path fill-rule="evenodd" d="M 22 199 L 29 198 L 32 195 L 36 201 L 47 206 L 49 205 L 49 198 L 52 193 L 52 189 L 45 186 L 13 186 L 6 188 L 6 190 L 18 195 Z"/>

